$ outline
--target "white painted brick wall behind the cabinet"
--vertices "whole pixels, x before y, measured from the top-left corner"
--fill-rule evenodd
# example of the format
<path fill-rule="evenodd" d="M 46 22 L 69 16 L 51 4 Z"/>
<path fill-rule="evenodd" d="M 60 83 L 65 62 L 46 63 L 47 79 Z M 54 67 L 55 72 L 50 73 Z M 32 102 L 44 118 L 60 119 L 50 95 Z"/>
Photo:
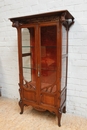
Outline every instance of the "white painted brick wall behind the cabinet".
<path fill-rule="evenodd" d="M 67 9 L 69 31 L 67 112 L 87 117 L 87 0 L 0 0 L 0 87 L 19 99 L 17 31 L 8 18 Z"/>

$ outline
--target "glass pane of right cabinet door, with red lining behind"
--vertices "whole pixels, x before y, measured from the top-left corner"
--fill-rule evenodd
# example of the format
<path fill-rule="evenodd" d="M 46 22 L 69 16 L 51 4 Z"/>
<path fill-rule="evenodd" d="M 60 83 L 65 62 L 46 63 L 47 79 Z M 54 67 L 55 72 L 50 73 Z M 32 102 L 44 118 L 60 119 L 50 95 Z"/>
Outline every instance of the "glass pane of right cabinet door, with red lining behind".
<path fill-rule="evenodd" d="M 41 89 L 56 91 L 57 27 L 41 27 Z"/>

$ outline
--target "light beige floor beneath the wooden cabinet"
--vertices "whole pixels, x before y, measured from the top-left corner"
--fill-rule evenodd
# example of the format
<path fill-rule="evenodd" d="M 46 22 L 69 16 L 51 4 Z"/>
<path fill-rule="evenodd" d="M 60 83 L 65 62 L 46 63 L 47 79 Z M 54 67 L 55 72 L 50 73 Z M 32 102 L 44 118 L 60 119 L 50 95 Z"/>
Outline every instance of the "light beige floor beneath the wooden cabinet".
<path fill-rule="evenodd" d="M 19 114 L 17 100 L 0 97 L 0 130 L 87 130 L 87 119 L 63 114 L 62 126 L 50 112 L 38 112 L 31 106 Z"/>

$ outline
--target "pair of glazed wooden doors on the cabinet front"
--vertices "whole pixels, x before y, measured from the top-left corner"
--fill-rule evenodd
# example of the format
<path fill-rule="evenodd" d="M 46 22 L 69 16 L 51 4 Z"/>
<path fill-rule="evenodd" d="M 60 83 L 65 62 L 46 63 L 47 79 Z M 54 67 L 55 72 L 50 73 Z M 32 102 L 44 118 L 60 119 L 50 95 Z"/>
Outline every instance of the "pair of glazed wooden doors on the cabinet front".
<path fill-rule="evenodd" d="M 57 91 L 57 24 L 22 28 L 23 96 L 55 106 Z"/>

